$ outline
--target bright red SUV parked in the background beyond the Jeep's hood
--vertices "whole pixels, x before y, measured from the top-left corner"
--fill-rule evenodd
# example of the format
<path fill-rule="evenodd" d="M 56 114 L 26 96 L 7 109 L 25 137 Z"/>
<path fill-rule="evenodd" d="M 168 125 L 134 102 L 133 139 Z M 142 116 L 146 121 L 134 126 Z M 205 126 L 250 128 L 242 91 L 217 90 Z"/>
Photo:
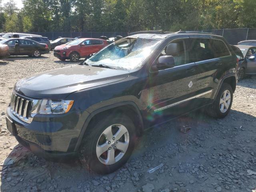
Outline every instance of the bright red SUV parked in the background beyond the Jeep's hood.
<path fill-rule="evenodd" d="M 54 56 L 62 61 L 70 59 L 71 62 L 77 62 L 79 58 L 91 56 L 105 46 L 108 46 L 106 40 L 81 38 L 64 45 L 56 46 L 54 48 Z"/>

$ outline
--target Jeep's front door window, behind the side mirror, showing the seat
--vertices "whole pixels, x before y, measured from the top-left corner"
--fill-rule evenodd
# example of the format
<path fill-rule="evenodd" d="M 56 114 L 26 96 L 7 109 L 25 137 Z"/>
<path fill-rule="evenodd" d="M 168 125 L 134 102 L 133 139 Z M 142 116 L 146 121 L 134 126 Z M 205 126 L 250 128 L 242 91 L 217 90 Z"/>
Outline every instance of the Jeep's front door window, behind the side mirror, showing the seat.
<path fill-rule="evenodd" d="M 175 54 L 172 54 L 175 66 L 187 64 L 187 53 L 184 40 L 174 40 L 171 43 L 176 43 L 178 49 Z M 166 48 L 164 48 L 161 55 L 166 55 Z"/>

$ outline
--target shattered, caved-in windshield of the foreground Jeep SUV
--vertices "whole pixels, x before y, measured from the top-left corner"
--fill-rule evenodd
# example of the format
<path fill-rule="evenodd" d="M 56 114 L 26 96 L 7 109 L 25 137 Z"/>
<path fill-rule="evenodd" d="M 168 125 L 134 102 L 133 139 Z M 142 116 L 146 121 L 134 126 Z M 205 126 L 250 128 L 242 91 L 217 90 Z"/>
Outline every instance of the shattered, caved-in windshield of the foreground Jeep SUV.
<path fill-rule="evenodd" d="M 106 65 L 112 68 L 134 70 L 152 53 L 160 40 L 125 38 L 110 44 L 85 62 L 89 65 Z"/>

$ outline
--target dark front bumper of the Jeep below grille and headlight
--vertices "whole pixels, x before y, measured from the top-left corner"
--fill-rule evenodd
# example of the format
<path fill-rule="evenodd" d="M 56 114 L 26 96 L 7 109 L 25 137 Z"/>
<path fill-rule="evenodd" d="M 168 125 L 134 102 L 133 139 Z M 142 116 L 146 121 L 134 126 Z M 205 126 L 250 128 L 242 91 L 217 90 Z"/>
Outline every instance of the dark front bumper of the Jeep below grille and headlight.
<path fill-rule="evenodd" d="M 51 156 L 74 155 L 82 128 L 78 123 L 80 116 L 80 111 L 50 117 L 37 114 L 28 124 L 12 114 L 10 107 L 6 111 L 7 128 L 18 142 L 38 156 L 50 159 Z"/>

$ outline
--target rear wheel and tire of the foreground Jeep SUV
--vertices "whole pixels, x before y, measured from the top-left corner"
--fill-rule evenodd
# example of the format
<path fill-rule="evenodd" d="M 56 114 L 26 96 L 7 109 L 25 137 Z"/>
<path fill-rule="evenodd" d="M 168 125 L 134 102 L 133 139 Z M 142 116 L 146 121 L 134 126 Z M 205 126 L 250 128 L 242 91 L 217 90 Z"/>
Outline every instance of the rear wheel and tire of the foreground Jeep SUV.
<path fill-rule="evenodd" d="M 230 84 L 223 83 L 214 102 L 207 108 L 209 116 L 224 118 L 228 115 L 233 102 L 233 89 Z"/>

